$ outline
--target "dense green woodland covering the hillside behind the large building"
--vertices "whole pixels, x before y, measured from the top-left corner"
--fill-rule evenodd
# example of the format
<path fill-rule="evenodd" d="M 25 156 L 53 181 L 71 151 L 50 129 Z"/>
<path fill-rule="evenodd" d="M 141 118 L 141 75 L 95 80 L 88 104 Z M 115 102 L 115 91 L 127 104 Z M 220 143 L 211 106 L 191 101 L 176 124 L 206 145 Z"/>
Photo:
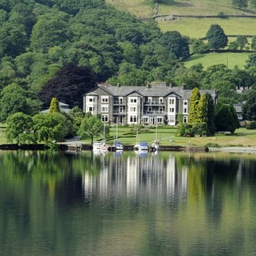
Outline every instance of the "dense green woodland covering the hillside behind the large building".
<path fill-rule="evenodd" d="M 207 50 L 220 50 L 227 43 L 221 40 Z M 216 89 L 221 102 L 246 100 L 249 94 L 235 89 L 255 87 L 256 54 L 243 70 L 186 69 L 180 60 L 204 47 L 180 32 L 162 33 L 154 20 L 143 22 L 103 0 L 0 0 L 0 121 L 12 113 L 38 113 L 53 97 L 81 107 L 81 95 L 105 81 L 165 81 Z"/>

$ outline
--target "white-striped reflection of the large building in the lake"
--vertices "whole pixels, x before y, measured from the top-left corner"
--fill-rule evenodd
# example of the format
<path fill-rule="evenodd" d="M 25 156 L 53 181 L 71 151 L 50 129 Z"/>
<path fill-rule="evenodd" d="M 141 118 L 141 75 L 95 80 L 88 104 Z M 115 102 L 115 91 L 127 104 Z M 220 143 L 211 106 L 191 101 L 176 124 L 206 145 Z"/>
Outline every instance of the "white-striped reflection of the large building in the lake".
<path fill-rule="evenodd" d="M 179 198 L 187 196 L 187 166 L 180 170 L 176 167 L 175 157 L 160 158 L 158 154 L 129 155 L 117 154 L 107 158 L 105 154 L 97 156 L 101 161 L 98 176 L 85 171 L 83 190 L 86 200 L 92 195 L 99 198 L 113 197 L 156 197 L 161 200 L 172 200 L 176 193 Z"/>

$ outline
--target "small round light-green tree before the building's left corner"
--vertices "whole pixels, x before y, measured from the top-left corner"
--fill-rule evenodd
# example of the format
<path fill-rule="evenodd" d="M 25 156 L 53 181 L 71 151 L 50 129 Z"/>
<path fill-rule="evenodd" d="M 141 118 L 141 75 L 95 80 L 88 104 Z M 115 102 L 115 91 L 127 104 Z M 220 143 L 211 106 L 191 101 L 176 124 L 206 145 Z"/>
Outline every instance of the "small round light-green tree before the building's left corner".
<path fill-rule="evenodd" d="M 91 139 L 93 144 L 94 137 L 101 135 L 103 132 L 103 123 L 99 117 L 93 116 L 91 113 L 87 113 L 83 118 L 78 135 L 84 139 Z"/>

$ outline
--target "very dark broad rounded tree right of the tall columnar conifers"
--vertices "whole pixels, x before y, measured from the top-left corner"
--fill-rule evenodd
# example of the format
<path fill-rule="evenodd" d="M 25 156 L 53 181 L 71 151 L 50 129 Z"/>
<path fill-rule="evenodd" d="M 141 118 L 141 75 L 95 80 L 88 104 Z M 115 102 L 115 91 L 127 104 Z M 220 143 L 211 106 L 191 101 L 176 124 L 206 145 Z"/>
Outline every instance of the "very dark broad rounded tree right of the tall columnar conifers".
<path fill-rule="evenodd" d="M 239 121 L 234 106 L 218 104 L 214 117 L 214 124 L 217 132 L 234 133 L 236 128 L 239 128 Z"/>

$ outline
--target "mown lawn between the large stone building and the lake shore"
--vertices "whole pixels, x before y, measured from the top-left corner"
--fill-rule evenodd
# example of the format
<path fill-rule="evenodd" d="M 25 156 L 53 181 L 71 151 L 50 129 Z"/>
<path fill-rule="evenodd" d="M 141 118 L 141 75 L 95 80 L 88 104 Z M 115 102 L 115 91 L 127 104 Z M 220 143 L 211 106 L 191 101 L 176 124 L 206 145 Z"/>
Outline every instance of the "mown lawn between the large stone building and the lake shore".
<path fill-rule="evenodd" d="M 131 127 L 118 128 L 118 139 L 124 145 L 135 145 L 137 142 L 136 132 L 131 131 Z M 221 147 L 256 147 L 256 130 L 247 130 L 246 128 L 239 128 L 236 130 L 235 135 L 216 135 L 212 137 L 194 137 L 184 138 L 176 137 L 176 128 L 158 128 L 158 139 L 161 139 L 161 145 L 173 146 L 188 146 L 189 142 L 195 146 L 206 146 L 207 143 L 215 143 Z M 116 135 L 116 128 L 110 128 L 109 138 L 107 143 L 113 144 Z M 156 138 L 155 128 L 150 128 L 150 132 L 140 132 L 139 141 L 147 141 L 153 143 Z M 95 138 L 102 139 L 102 137 Z M 90 143 L 88 140 L 85 143 Z"/>

